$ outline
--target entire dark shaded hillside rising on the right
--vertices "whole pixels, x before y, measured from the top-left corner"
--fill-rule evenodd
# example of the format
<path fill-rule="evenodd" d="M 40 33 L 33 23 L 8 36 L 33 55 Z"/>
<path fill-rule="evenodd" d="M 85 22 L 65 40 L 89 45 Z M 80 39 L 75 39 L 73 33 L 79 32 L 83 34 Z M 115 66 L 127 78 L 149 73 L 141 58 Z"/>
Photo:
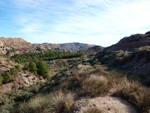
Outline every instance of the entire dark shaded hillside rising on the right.
<path fill-rule="evenodd" d="M 94 61 L 138 75 L 145 84 L 150 85 L 150 32 L 123 38 L 96 54 Z"/>

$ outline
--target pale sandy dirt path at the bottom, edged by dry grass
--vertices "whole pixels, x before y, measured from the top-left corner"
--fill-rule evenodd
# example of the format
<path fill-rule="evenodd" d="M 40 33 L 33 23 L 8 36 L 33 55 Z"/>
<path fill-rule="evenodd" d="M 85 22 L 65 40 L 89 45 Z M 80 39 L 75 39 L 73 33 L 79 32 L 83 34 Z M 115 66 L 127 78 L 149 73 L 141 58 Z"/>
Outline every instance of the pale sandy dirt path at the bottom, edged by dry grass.
<path fill-rule="evenodd" d="M 129 102 L 110 96 L 81 99 L 76 102 L 75 108 L 74 113 L 85 113 L 84 111 L 88 108 L 97 108 L 101 111 L 100 113 L 138 113 Z"/>

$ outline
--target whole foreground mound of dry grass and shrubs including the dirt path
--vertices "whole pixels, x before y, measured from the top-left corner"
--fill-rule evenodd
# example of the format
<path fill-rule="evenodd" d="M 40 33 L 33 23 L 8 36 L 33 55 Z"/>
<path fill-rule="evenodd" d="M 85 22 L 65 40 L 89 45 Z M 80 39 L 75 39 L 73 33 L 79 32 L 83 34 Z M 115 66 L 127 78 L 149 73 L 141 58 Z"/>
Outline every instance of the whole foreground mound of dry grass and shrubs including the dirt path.
<path fill-rule="evenodd" d="M 12 108 L 8 109 L 9 103 L 3 106 L 2 113 L 149 113 L 149 89 L 105 66 L 83 65 L 78 60 L 33 95 L 33 90 L 20 95 L 23 100 Z"/>

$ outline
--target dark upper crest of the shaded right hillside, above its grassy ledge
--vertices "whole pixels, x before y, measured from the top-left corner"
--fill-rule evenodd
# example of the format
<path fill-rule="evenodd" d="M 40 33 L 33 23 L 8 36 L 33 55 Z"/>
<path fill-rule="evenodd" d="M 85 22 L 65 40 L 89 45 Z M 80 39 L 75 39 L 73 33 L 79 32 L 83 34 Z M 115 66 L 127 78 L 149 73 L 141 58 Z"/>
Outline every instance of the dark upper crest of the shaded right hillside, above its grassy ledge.
<path fill-rule="evenodd" d="M 145 34 L 134 34 L 121 39 L 110 47 L 112 50 L 133 50 L 135 48 L 150 46 L 150 31 Z"/>

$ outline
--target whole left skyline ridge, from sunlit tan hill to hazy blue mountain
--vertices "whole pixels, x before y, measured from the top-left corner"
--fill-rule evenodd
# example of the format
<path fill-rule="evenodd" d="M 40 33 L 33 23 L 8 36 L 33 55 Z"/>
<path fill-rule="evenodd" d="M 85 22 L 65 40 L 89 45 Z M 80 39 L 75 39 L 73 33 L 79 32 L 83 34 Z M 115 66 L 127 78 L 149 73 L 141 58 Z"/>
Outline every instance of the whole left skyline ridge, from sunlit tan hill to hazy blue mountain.
<path fill-rule="evenodd" d="M 79 51 L 85 47 L 93 47 L 94 45 L 83 43 L 64 43 L 64 44 L 32 44 L 22 38 L 4 38 L 0 37 L 0 54 L 14 56 L 16 54 L 23 54 L 36 52 L 37 50 L 50 49 L 60 50 L 65 52 Z"/>

